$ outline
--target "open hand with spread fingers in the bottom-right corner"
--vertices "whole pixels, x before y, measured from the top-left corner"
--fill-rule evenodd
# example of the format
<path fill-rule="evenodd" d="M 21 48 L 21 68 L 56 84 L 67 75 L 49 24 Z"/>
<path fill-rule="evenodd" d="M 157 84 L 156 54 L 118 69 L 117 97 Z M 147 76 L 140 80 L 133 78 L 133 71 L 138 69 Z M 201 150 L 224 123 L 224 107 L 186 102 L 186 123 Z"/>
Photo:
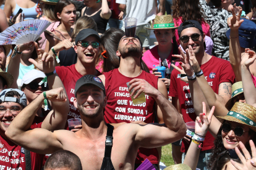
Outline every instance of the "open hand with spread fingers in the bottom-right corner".
<path fill-rule="evenodd" d="M 250 143 L 250 150 L 252 151 L 252 155 L 250 155 L 250 153 L 245 148 L 244 144 L 242 144 L 242 142 L 239 142 L 239 146 L 240 146 L 242 152 L 244 153 L 244 155 L 242 155 L 239 148 L 237 148 L 237 147 L 235 148 L 237 156 L 242 161 L 242 164 L 240 164 L 240 163 L 237 163 L 237 162 L 231 160 L 231 163 L 233 164 L 233 166 L 236 169 L 239 169 L 239 170 L 256 169 L 256 148 L 255 148 L 254 142 L 252 140 L 250 140 L 249 143 Z"/>

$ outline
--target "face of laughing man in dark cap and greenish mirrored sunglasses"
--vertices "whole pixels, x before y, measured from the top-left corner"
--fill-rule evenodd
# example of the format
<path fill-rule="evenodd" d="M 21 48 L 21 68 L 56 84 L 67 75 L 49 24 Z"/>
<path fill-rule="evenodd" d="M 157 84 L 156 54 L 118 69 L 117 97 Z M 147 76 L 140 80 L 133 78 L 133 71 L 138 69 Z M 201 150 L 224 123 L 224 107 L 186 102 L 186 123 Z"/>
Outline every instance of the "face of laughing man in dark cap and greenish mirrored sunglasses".
<path fill-rule="evenodd" d="M 88 36 L 87 38 L 83 39 L 81 42 L 88 41 L 88 42 L 99 42 L 95 36 Z M 75 52 L 77 52 L 77 57 L 83 65 L 91 65 L 91 63 L 95 63 L 98 57 L 100 46 L 98 48 L 93 48 L 92 44 L 89 44 L 88 47 L 82 47 L 81 42 L 77 43 L 77 46 L 74 47 Z M 99 42 L 100 43 L 100 42 Z"/>

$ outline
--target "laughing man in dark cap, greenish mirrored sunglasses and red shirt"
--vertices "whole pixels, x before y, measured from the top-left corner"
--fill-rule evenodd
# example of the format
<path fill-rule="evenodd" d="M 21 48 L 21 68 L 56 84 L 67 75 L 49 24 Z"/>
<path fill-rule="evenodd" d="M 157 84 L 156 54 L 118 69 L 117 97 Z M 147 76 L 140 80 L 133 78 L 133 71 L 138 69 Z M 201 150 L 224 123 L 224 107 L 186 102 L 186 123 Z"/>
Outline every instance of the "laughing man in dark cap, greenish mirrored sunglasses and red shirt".
<path fill-rule="evenodd" d="M 75 38 L 75 52 L 77 52 L 77 63 L 67 67 L 56 67 L 56 73 L 69 97 L 68 118 L 80 118 L 80 113 L 74 107 L 75 83 L 84 75 L 99 76 L 101 73 L 95 69 L 96 60 L 100 51 L 100 36 L 92 29 L 84 29 Z"/>

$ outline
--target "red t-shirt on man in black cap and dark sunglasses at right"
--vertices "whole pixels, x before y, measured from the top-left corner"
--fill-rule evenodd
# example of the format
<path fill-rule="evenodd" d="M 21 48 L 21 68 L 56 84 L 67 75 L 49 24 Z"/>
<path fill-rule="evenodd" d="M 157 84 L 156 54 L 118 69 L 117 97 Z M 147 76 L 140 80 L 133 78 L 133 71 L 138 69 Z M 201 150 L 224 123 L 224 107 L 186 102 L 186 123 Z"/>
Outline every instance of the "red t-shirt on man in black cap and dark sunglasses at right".
<path fill-rule="evenodd" d="M 181 66 L 179 66 L 179 68 L 181 68 Z M 208 84 L 216 94 L 218 94 L 219 85 L 221 83 L 234 83 L 235 75 L 233 69 L 230 63 L 226 60 L 212 56 L 211 59 L 207 63 L 201 65 L 200 68 L 203 70 L 203 74 L 205 75 L 205 79 L 207 79 Z M 171 73 L 169 96 L 179 98 L 181 113 L 185 123 L 195 121 L 197 116 L 194 112 L 189 84 L 177 78 L 177 74 L 180 74 L 177 70 L 173 70 Z M 214 146 L 214 140 L 215 138 L 211 136 L 210 132 L 207 132 L 202 150 L 211 149 Z M 189 144 L 182 140 L 181 152 L 187 152 L 188 148 Z"/>

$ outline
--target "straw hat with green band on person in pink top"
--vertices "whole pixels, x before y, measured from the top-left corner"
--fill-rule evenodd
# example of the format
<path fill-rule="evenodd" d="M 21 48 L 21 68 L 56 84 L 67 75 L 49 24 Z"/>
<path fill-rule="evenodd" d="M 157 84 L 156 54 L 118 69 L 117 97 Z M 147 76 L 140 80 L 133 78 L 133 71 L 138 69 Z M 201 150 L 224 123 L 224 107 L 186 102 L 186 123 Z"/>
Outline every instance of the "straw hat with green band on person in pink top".
<path fill-rule="evenodd" d="M 173 28 L 175 29 L 178 27 L 179 26 L 176 26 L 176 27 L 174 26 L 172 15 L 161 15 L 161 16 L 156 15 L 153 28 L 147 28 L 147 27 L 144 27 L 144 28 L 148 30 L 160 30 L 160 29 L 173 29 Z"/>

